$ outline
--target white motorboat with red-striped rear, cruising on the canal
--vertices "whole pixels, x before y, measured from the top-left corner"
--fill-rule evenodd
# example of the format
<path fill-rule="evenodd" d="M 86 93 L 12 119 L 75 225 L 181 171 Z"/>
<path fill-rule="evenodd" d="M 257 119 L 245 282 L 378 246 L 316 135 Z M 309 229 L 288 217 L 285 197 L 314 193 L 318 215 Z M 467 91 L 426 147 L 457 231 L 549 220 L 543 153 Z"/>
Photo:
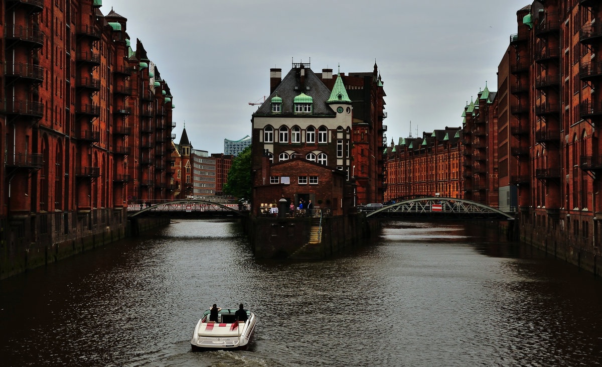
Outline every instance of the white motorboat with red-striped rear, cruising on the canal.
<path fill-rule="evenodd" d="M 209 310 L 197 322 L 190 339 L 193 350 L 242 349 L 246 350 L 255 331 L 256 316 L 249 310 L 247 321 L 238 321 L 238 309 L 222 309 L 217 322 L 209 321 Z"/>

